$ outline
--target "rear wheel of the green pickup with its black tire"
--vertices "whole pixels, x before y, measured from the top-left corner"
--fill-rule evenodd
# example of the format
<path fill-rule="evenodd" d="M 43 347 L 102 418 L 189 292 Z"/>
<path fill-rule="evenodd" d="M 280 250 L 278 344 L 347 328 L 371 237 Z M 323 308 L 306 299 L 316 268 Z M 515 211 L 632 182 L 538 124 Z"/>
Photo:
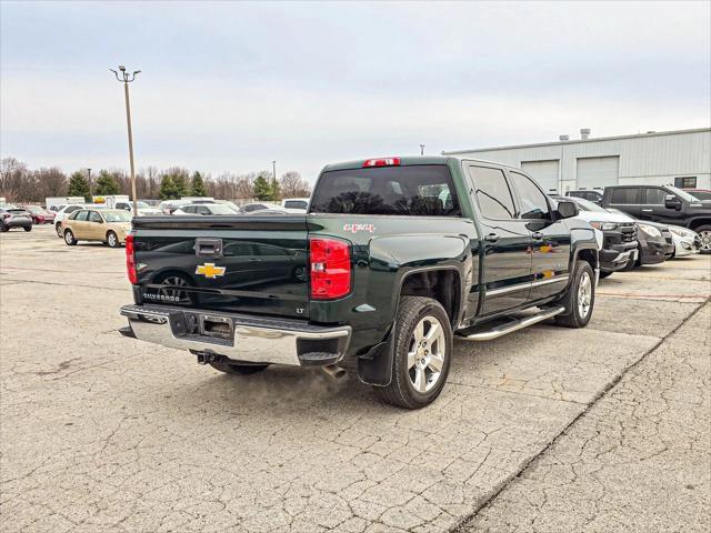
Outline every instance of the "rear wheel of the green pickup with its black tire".
<path fill-rule="evenodd" d="M 434 320 L 432 320 L 434 319 Z M 429 328 L 428 328 L 428 320 Z M 423 341 L 428 341 L 428 335 L 440 332 L 431 344 L 420 344 L 417 341 L 415 328 L 422 323 L 421 333 Z M 441 330 L 435 328 L 439 324 Z M 428 328 L 425 330 L 425 328 Z M 432 333 L 430 333 L 432 332 Z M 402 296 L 398 308 L 395 322 L 395 346 L 392 361 L 392 379 L 388 386 L 375 386 L 375 393 L 380 399 L 391 405 L 403 409 L 421 409 L 432 403 L 447 383 L 450 363 L 453 352 L 452 325 L 444 308 L 431 298 Z M 434 358 L 434 346 L 440 352 L 441 358 Z M 427 349 L 431 350 L 428 351 Z M 413 358 L 409 353 L 414 352 Z M 421 359 L 419 359 L 421 358 Z M 412 361 L 414 360 L 414 364 Z M 431 361 L 440 366 L 440 371 L 434 376 Z M 421 362 L 421 363 L 420 363 Z M 427 366 L 424 364 L 427 363 Z M 428 371 L 430 372 L 428 374 Z M 424 380 L 424 381 L 422 381 Z M 431 381 L 433 380 L 433 381 Z M 415 382 L 420 385 L 424 383 L 424 391 L 415 389 Z M 429 390 L 428 386 L 431 386 Z"/>

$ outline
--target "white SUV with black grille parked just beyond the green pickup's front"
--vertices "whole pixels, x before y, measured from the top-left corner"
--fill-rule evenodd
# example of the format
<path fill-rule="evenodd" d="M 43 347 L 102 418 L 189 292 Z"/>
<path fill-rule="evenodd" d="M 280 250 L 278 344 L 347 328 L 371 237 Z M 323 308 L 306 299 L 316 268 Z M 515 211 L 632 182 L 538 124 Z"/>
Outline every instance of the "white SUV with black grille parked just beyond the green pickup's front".
<path fill-rule="evenodd" d="M 552 197 L 563 200 L 563 197 Z M 608 278 L 618 270 L 624 269 L 630 261 L 637 262 L 639 242 L 637 241 L 637 224 L 620 212 L 610 212 L 597 203 L 582 198 L 571 197 L 578 204 L 578 218 L 587 221 L 593 228 L 602 231 L 603 241 L 600 250 L 600 278 Z"/>

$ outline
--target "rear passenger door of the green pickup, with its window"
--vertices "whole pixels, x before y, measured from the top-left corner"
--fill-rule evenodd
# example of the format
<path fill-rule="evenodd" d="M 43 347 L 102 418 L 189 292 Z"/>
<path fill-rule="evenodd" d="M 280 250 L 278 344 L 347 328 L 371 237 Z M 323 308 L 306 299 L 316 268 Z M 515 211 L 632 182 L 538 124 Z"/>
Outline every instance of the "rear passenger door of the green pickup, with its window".
<path fill-rule="evenodd" d="M 492 314 L 527 302 L 531 288 L 531 232 L 518 218 L 512 189 L 502 169 L 467 164 L 483 234 L 480 314 Z"/>

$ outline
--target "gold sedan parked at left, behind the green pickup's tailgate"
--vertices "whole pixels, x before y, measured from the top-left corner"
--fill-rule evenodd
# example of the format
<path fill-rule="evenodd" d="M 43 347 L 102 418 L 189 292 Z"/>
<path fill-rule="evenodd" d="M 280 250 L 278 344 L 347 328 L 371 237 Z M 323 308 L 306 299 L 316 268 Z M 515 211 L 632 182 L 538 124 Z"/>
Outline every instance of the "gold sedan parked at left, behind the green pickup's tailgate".
<path fill-rule="evenodd" d="M 78 241 L 101 241 L 118 248 L 131 231 L 131 213 L 120 209 L 81 209 L 62 221 L 62 231 L 70 247 Z"/>

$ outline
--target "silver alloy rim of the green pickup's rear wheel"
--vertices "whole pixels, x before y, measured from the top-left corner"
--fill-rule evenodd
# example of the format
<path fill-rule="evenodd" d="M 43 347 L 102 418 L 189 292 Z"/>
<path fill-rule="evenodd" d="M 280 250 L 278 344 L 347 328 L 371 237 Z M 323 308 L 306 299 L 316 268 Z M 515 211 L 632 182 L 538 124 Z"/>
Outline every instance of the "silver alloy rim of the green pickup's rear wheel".
<path fill-rule="evenodd" d="M 439 381 L 447 356 L 442 324 L 434 316 L 418 322 L 408 350 L 410 383 L 420 393 L 429 392 Z"/>

